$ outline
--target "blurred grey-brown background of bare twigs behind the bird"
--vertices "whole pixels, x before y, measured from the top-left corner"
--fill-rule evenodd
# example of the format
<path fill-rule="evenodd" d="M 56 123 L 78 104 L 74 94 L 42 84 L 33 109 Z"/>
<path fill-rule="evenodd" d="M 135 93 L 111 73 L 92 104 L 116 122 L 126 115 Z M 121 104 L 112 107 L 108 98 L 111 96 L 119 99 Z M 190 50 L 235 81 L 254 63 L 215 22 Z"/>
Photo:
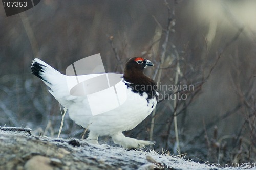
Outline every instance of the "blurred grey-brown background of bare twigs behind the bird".
<path fill-rule="evenodd" d="M 60 106 L 31 74 L 35 57 L 65 73 L 100 53 L 106 71 L 122 73 L 129 58 L 143 56 L 159 87 L 193 89 L 160 89 L 166 99 L 126 136 L 199 162 L 256 160 L 255 1 L 41 0 L 10 17 L 0 6 L 0 126 L 57 137 Z M 60 137 L 83 132 L 66 115 Z"/>

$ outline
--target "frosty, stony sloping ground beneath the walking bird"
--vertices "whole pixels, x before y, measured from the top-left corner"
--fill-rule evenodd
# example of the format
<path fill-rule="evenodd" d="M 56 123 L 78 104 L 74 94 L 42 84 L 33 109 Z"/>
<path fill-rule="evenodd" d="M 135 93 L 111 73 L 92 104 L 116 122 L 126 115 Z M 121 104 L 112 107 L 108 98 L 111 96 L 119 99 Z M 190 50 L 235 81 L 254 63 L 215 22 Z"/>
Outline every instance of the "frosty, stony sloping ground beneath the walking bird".
<path fill-rule="evenodd" d="M 177 156 L 158 155 L 154 151 L 125 150 L 109 145 L 91 145 L 79 139 L 48 138 L 31 136 L 26 131 L 0 130 L 0 169 L 221 168 Z"/>

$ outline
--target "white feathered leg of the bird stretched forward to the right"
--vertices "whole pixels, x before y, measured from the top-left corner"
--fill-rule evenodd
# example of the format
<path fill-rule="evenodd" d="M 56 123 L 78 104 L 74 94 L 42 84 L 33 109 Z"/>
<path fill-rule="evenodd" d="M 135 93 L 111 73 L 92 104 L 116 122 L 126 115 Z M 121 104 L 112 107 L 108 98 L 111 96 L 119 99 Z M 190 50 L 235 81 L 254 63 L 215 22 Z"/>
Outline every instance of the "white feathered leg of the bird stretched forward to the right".
<path fill-rule="evenodd" d="M 134 138 L 126 137 L 122 134 L 122 132 L 112 135 L 111 137 L 116 144 L 119 144 L 123 148 L 127 149 L 144 148 L 146 145 L 154 144 L 151 141 L 137 140 Z"/>

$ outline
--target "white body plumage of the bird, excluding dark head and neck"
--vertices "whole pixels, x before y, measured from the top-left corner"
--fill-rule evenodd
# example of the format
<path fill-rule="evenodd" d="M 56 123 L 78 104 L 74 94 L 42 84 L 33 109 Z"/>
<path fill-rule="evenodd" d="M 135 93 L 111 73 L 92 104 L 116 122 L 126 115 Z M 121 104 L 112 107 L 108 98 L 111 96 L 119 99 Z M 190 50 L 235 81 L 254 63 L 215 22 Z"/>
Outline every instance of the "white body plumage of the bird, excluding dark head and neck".
<path fill-rule="evenodd" d="M 147 60 L 149 61 L 149 60 Z M 157 104 L 156 97 L 148 99 L 144 92 L 142 95 L 132 91 L 127 87 L 127 82 L 122 80 L 118 83 L 118 88 L 126 92 L 126 101 L 119 107 L 110 109 L 110 111 L 92 115 L 88 97 L 74 96 L 70 94 L 68 88 L 69 80 L 72 77 L 66 76 L 52 68 L 50 65 L 35 58 L 32 62 L 32 73 L 50 88 L 49 92 L 56 100 L 68 109 L 70 118 L 81 125 L 83 128 L 90 130 L 87 142 L 98 144 L 98 136 L 111 136 L 116 144 L 124 148 L 141 148 L 145 145 L 153 144 L 150 141 L 137 140 L 125 137 L 122 132 L 135 128 L 154 110 Z M 78 76 L 81 79 L 89 79 L 102 74 L 91 74 Z M 95 97 L 95 96 L 94 96 Z M 97 95 L 96 95 L 97 97 Z M 100 100 L 109 101 L 108 94 L 99 95 Z M 101 107 L 101 106 L 98 106 Z M 104 105 L 104 107 L 106 107 Z M 104 108 L 103 108 L 104 109 Z M 108 110 L 108 108 L 105 108 Z"/>

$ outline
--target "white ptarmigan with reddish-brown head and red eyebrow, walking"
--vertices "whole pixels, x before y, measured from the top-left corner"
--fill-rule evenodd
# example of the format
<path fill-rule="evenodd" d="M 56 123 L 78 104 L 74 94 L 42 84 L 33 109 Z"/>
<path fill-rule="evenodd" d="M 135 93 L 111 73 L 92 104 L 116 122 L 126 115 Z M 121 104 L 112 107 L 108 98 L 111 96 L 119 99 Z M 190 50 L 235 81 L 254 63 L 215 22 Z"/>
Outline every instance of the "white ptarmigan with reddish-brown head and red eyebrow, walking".
<path fill-rule="evenodd" d="M 87 142 L 98 144 L 98 136 L 111 136 L 116 144 L 131 149 L 153 144 L 151 141 L 125 137 L 122 133 L 135 128 L 156 107 L 157 84 L 143 73 L 143 70 L 148 66 L 153 66 L 153 63 L 142 57 L 129 59 L 119 83 L 119 86 L 126 92 L 125 102 L 117 108 L 97 115 L 92 115 L 86 95 L 73 96 L 70 94 L 67 80 L 72 77 L 61 74 L 38 58 L 33 60 L 31 70 L 32 74 L 39 77 L 50 88 L 49 92 L 55 99 L 68 109 L 69 117 L 76 124 L 90 130 L 86 139 Z M 107 94 L 101 98 L 103 99 L 100 101 L 109 100 Z"/>

